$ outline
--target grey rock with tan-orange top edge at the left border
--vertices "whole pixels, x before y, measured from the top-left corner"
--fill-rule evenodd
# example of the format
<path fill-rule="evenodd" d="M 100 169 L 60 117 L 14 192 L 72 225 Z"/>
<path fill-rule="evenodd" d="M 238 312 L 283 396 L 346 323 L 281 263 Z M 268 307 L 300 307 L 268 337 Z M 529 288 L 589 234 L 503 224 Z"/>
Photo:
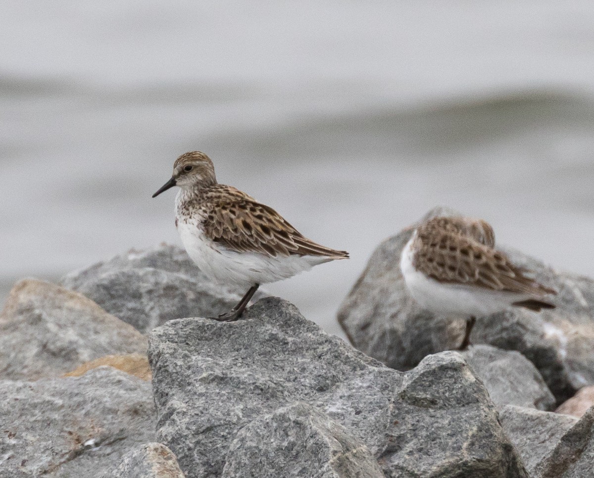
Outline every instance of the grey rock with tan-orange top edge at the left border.
<path fill-rule="evenodd" d="M 27 279 L 0 315 L 0 350 L 0 378 L 36 380 L 107 354 L 146 354 L 147 340 L 87 297 Z"/>

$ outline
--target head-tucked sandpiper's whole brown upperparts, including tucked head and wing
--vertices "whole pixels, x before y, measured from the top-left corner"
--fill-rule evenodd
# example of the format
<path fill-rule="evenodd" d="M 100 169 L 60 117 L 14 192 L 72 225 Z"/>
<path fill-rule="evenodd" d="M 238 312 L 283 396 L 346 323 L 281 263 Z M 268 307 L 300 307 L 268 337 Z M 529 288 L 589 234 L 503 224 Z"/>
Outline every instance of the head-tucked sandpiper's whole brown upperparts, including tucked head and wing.
<path fill-rule="evenodd" d="M 526 277 L 494 243 L 493 229 L 483 220 L 436 217 L 417 229 L 413 264 L 444 283 L 536 296 L 555 293 Z"/>

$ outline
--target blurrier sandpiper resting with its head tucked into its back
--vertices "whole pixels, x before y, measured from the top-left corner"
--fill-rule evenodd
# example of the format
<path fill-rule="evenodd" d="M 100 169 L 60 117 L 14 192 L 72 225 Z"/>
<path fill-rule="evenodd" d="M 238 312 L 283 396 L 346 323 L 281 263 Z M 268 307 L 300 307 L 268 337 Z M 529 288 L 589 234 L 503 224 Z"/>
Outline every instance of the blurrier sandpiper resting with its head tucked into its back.
<path fill-rule="evenodd" d="M 415 229 L 400 258 L 413 299 L 435 314 L 467 316 L 460 350 L 469 345 L 476 317 L 508 307 L 553 309 L 556 292 L 495 249 L 492 227 L 467 217 L 434 217 Z"/>

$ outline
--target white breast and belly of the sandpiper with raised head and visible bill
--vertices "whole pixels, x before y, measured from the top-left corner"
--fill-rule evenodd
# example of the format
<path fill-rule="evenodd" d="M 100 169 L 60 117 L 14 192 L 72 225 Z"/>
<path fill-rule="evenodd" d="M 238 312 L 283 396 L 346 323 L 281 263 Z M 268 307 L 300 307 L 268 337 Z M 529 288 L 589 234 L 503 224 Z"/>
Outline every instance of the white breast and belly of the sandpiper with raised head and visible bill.
<path fill-rule="evenodd" d="M 242 289 L 285 279 L 329 260 L 307 255 L 268 257 L 257 252 L 230 251 L 208 239 L 195 221 L 181 217 L 178 232 L 189 257 L 204 274 L 220 284 Z"/>

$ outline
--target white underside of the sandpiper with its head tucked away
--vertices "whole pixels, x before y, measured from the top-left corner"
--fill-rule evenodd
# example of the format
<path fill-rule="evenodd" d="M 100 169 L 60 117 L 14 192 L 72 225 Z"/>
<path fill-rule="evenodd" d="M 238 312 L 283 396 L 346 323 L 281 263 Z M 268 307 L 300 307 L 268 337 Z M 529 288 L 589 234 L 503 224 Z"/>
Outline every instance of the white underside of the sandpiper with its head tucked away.
<path fill-rule="evenodd" d="M 434 314 L 484 316 L 504 311 L 513 302 L 532 297 L 478 286 L 445 284 L 425 276 L 413 266 L 412 242 L 415 235 L 402 250 L 400 270 L 413 299 Z"/>

